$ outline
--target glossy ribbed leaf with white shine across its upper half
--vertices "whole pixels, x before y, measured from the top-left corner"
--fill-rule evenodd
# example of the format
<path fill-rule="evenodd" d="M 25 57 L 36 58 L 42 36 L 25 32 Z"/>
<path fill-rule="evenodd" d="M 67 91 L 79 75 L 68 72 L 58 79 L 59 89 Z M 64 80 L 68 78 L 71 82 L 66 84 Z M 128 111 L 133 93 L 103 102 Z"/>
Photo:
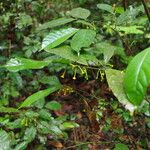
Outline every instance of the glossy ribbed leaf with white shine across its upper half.
<path fill-rule="evenodd" d="M 78 29 L 75 28 L 67 28 L 54 31 L 47 35 L 42 42 L 42 49 L 45 48 L 54 48 L 67 39 L 69 39 L 73 34 L 75 34 Z"/>

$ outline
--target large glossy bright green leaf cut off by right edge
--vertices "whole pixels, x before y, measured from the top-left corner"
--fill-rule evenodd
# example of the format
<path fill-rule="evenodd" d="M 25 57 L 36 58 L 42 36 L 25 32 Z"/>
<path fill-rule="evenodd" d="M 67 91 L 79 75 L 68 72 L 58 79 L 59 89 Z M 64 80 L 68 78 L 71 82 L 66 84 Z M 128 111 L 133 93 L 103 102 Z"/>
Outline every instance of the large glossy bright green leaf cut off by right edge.
<path fill-rule="evenodd" d="M 130 102 L 140 105 L 150 84 L 150 48 L 137 54 L 127 67 L 124 89 Z"/>

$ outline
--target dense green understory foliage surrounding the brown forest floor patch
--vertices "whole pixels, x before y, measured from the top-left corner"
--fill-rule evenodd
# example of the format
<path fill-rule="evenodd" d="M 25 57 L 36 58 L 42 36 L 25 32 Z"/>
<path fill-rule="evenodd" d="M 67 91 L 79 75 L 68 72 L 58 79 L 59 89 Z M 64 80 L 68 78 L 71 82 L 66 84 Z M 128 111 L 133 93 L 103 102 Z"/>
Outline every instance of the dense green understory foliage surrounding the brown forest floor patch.
<path fill-rule="evenodd" d="M 126 124 L 139 115 L 150 128 L 150 6 L 123 2 L 0 2 L 0 150 L 63 149 L 58 141 L 67 141 L 80 123 L 76 114 L 61 113 L 59 97 L 85 98 L 65 79 L 107 85 L 109 96 L 93 91 L 99 124 L 111 107 Z M 102 130 L 109 129 L 107 118 Z M 130 148 L 115 140 L 113 149 Z M 139 141 L 144 149 L 147 140 Z"/>

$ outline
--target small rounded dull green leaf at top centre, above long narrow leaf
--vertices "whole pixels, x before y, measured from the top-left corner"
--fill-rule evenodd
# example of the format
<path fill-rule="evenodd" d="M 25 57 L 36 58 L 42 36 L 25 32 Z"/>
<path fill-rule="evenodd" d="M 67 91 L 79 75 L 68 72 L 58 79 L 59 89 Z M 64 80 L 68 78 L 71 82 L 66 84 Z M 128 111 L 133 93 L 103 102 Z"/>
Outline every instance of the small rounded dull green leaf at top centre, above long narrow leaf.
<path fill-rule="evenodd" d="M 80 18 L 80 19 L 87 19 L 90 16 L 90 11 L 85 8 L 74 8 L 69 12 L 69 15 L 71 15 L 74 18 Z"/>

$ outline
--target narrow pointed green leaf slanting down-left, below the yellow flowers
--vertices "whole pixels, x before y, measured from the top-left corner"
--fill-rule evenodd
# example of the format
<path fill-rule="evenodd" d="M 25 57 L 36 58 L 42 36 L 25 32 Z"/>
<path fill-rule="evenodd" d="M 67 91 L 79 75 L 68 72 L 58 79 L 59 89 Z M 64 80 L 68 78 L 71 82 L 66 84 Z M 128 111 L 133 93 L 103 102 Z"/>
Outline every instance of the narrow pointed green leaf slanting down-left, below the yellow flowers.
<path fill-rule="evenodd" d="M 27 99 L 24 100 L 24 102 L 21 104 L 19 109 L 23 107 L 31 106 L 31 104 L 33 104 L 34 102 L 48 96 L 49 94 L 57 91 L 58 89 L 60 89 L 60 86 L 54 86 L 46 90 L 41 90 L 32 94 L 31 96 L 29 96 Z"/>

